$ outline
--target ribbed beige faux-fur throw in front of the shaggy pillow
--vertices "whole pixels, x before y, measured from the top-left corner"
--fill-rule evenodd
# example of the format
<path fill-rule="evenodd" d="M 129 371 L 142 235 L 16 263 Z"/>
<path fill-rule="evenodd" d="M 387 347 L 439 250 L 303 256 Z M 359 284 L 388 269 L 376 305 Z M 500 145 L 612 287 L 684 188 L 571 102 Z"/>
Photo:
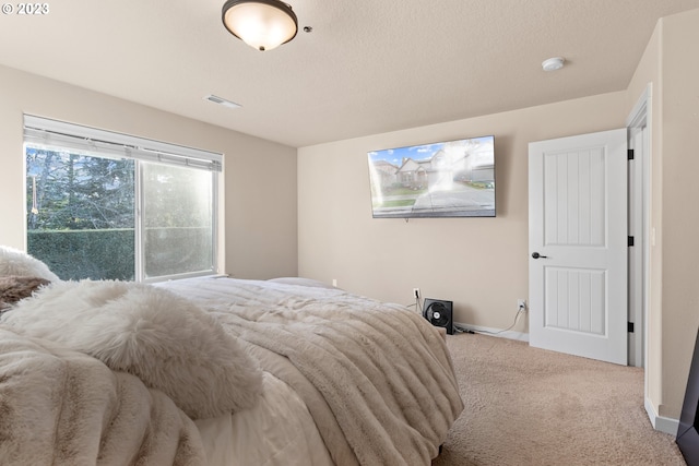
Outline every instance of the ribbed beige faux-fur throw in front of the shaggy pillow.
<path fill-rule="evenodd" d="M 87 355 L 0 326 L 0 464 L 206 459 L 193 421 L 163 393 Z"/>

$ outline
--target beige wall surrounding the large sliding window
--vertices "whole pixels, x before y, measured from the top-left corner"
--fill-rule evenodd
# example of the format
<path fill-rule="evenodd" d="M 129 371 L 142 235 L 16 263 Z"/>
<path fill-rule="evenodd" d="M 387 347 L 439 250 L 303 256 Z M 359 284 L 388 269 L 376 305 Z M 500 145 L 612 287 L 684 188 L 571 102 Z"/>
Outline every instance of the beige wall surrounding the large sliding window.
<path fill-rule="evenodd" d="M 224 154 L 226 272 L 296 275 L 296 150 L 0 67 L 0 244 L 23 249 L 23 113 Z"/>

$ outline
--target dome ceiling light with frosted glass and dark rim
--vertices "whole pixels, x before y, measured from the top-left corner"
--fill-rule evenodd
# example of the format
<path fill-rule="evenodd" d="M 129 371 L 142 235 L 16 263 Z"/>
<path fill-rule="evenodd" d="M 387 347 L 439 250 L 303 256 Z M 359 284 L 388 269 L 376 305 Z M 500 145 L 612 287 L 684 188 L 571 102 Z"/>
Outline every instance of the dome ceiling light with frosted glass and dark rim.
<path fill-rule="evenodd" d="M 228 0 L 221 16 L 230 34 L 258 50 L 286 44 L 298 31 L 292 7 L 280 0 Z"/>

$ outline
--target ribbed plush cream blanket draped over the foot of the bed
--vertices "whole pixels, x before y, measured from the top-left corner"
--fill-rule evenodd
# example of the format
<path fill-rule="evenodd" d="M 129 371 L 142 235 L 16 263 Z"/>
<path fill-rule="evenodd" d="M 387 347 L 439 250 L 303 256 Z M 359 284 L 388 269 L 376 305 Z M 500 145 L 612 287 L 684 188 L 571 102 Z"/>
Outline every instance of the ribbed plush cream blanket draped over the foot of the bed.
<path fill-rule="evenodd" d="M 249 344 L 304 401 L 336 464 L 429 464 L 463 409 L 439 332 L 404 307 L 273 282 L 162 286 Z"/>

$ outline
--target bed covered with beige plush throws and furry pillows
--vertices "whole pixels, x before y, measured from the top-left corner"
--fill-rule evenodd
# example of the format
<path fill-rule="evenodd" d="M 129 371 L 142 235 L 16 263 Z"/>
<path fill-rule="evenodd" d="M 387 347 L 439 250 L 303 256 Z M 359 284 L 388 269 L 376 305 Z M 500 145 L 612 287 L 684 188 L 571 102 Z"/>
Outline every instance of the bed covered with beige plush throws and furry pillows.
<path fill-rule="evenodd" d="M 428 465 L 463 409 L 419 313 L 303 278 L 63 282 L 0 247 L 0 464 Z"/>

